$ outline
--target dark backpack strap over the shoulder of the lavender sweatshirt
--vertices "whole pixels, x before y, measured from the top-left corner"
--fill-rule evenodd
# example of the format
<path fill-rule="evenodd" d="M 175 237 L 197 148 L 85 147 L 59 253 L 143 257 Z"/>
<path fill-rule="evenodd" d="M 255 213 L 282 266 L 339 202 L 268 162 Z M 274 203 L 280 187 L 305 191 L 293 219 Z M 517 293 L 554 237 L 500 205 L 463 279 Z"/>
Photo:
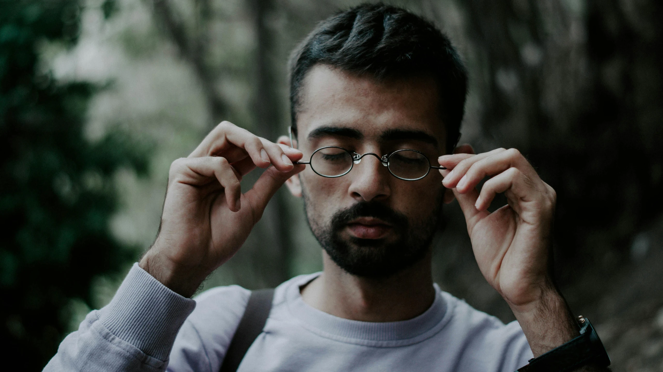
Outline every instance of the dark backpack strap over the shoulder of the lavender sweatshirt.
<path fill-rule="evenodd" d="M 219 372 L 235 372 L 244 355 L 249 350 L 256 338 L 263 332 L 269 312 L 272 310 L 272 299 L 274 288 L 259 289 L 251 291 L 249 303 L 239 326 L 235 331 L 233 340 L 230 341 L 228 351 L 225 353 L 223 363 Z"/>

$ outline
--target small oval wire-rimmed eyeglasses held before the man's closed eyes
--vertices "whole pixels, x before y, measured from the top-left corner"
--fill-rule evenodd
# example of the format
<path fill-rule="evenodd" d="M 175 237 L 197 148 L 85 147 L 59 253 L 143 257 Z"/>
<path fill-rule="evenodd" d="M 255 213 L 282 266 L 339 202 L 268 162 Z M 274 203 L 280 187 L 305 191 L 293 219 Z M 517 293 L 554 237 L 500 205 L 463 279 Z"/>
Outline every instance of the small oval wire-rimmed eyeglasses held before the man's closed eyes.
<path fill-rule="evenodd" d="M 444 166 L 430 165 L 426 155 L 416 150 L 396 150 L 393 153 L 379 156 L 374 153 L 359 155 L 336 146 L 321 147 L 314 151 L 308 162 L 294 162 L 294 164 L 309 164 L 316 174 L 335 178 L 345 176 L 352 170 L 353 165 L 359 164 L 361 158 L 366 155 L 378 158 L 383 166 L 389 169 L 392 176 L 400 180 L 416 181 L 428 176 L 430 168 L 446 169 Z"/>

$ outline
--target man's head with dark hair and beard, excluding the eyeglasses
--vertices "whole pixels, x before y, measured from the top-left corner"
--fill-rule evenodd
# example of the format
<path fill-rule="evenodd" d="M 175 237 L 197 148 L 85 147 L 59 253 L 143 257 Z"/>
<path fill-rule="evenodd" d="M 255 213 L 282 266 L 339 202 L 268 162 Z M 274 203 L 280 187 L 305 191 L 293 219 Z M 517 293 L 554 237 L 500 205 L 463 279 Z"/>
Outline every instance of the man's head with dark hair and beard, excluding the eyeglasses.
<path fill-rule="evenodd" d="M 432 165 L 459 137 L 467 86 L 450 41 L 403 9 L 360 5 L 323 21 L 291 61 L 293 133 L 304 160 L 325 146 L 387 155 L 424 153 Z M 363 277 L 387 277 L 426 256 L 444 187 L 433 170 L 392 176 L 375 156 L 348 174 L 310 169 L 288 181 L 303 195 L 314 235 L 333 262 Z"/>

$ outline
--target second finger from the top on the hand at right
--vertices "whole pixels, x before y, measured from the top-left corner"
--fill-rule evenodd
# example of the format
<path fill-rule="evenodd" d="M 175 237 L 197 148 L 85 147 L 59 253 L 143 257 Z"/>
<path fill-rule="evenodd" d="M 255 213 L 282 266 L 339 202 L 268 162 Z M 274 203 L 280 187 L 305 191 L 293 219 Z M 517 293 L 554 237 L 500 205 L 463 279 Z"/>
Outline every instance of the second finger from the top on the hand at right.
<path fill-rule="evenodd" d="M 493 176 L 512 167 L 518 168 L 520 172 L 530 176 L 536 174 L 534 168 L 532 168 L 518 150 L 509 149 L 474 162 L 457 182 L 456 188 L 458 192 L 463 193 L 477 186 L 486 176 Z M 539 179 L 538 174 L 534 179 Z"/>

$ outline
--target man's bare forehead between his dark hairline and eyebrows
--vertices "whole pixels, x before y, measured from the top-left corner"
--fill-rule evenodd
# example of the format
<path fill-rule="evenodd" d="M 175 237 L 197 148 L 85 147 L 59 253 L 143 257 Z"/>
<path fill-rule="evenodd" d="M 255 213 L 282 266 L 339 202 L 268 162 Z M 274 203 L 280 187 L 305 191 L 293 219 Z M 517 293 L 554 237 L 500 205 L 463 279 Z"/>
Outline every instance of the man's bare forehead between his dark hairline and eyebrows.
<path fill-rule="evenodd" d="M 357 129 L 367 138 L 390 130 L 423 131 L 444 145 L 444 125 L 432 78 L 379 81 L 318 65 L 306 74 L 300 97 L 300 139 L 317 127 L 340 126 Z"/>

